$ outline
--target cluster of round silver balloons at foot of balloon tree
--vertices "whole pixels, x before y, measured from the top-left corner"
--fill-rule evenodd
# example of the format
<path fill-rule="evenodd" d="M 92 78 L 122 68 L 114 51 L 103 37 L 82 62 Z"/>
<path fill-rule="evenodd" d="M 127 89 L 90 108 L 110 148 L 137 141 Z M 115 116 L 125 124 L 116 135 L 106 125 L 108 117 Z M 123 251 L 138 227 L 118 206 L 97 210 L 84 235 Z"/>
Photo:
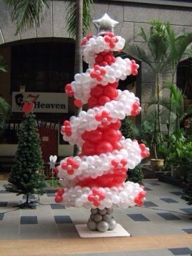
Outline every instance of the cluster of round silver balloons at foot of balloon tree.
<path fill-rule="evenodd" d="M 114 230 L 117 226 L 116 220 L 112 216 L 113 207 L 103 210 L 91 209 L 91 215 L 87 222 L 87 228 L 91 231 L 106 232 Z"/>

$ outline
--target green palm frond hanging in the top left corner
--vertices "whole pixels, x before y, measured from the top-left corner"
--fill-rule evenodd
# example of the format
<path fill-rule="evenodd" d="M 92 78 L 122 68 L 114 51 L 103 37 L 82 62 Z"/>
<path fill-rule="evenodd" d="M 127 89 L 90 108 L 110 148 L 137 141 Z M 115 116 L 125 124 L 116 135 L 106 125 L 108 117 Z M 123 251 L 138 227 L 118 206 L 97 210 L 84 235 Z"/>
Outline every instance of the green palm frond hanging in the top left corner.
<path fill-rule="evenodd" d="M 43 21 L 45 8 L 50 7 L 49 0 L 3 0 L 3 2 L 13 7 L 11 17 L 17 24 L 15 35 L 34 26 L 39 27 L 40 22 Z"/>

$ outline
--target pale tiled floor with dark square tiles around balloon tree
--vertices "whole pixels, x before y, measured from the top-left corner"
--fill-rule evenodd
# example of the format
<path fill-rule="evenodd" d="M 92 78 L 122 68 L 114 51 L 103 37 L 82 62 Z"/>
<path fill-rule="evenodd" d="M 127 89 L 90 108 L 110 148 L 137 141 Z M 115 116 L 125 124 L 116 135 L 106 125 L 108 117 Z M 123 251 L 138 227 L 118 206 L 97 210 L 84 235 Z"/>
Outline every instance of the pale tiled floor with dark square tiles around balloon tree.
<path fill-rule="evenodd" d="M 47 193 L 41 196 L 41 204 L 36 206 L 34 205 L 33 209 L 18 210 L 12 206 L 17 205 L 18 202 L 24 200 L 24 197 L 22 195 L 16 196 L 12 193 L 5 193 L 5 181 L 1 181 L 0 252 L 3 248 L 1 247 L 1 242 L 3 246 L 3 241 L 4 243 L 9 244 L 18 240 L 23 241 L 23 239 L 25 239 L 25 241 L 26 239 L 27 241 L 29 239 L 50 239 L 50 241 L 52 241 L 52 239 L 58 239 L 58 241 L 60 241 L 60 239 L 62 239 L 62 241 L 68 241 L 68 239 L 70 239 L 70 242 L 74 239 L 75 243 L 77 243 L 79 247 L 75 250 L 76 254 L 73 254 L 73 250 L 71 249 L 72 251 L 70 251 L 70 255 L 190 255 L 192 253 L 192 209 L 190 205 L 186 204 L 186 201 L 183 201 L 183 199 L 180 198 L 182 195 L 182 190 L 166 183 L 158 182 L 157 180 L 145 180 L 144 183 L 147 187 L 147 201 L 143 207 L 114 209 L 114 218 L 132 235 L 132 237 L 126 238 L 128 239 L 125 240 L 126 243 L 123 242 L 124 240 L 119 239 L 123 245 L 119 247 L 118 244 L 117 247 L 114 247 L 115 244 L 112 247 L 109 246 L 111 251 L 110 249 L 107 249 L 107 244 L 111 241 L 109 238 L 109 240 L 102 240 L 102 242 L 104 241 L 105 243 L 105 246 L 103 245 L 103 251 L 101 250 L 100 246 L 95 245 L 94 251 L 85 250 L 86 253 L 84 253 L 81 246 L 84 245 L 85 239 L 79 238 L 75 225 L 86 223 L 90 216 L 90 210 L 75 208 L 66 209 L 64 206 L 55 204 L 54 191 L 50 188 L 47 188 Z M 1 191 L 4 192 L 1 193 Z M 30 198 L 32 201 L 34 201 L 34 199 L 36 200 L 36 195 L 31 196 Z M 191 236 L 191 239 L 189 239 L 191 242 L 183 239 L 184 242 L 179 243 L 180 238 L 174 238 L 174 243 L 172 243 L 171 239 L 175 235 L 178 235 L 178 237 L 186 237 L 187 239 L 188 236 Z M 161 241 L 161 239 L 163 239 L 165 236 L 169 237 L 165 239 L 165 245 L 161 245 L 163 247 L 159 247 L 159 245 L 156 247 L 156 240 L 159 239 L 159 241 Z M 154 237 L 156 237 L 156 240 L 153 240 L 153 246 L 151 243 L 150 246 L 145 247 L 143 245 L 137 250 L 137 247 L 133 248 L 127 245 L 127 243 L 129 244 L 129 241 L 131 241 L 129 239 L 132 238 L 136 240 L 138 239 L 138 241 L 143 241 L 145 238 L 146 243 L 149 243 L 150 239 L 148 238 L 152 239 Z M 93 242 L 93 239 L 91 241 Z M 96 239 L 94 241 L 97 242 L 99 240 Z M 126 247 L 124 243 L 128 247 Z M 121 248 L 121 250 L 118 248 Z M 102 253 L 100 251 L 102 251 Z M 100 253 L 98 254 L 97 252 Z M 55 254 L 43 254 L 43 252 L 39 254 L 23 253 L 21 256 L 68 255 L 66 254 L 67 252 L 65 252 L 65 254 L 59 253 L 59 251 L 58 254 L 56 252 Z M 4 256 L 8 254 L 0 253 L 0 255 Z M 9 255 L 20 256 L 20 254 L 16 253 Z"/>

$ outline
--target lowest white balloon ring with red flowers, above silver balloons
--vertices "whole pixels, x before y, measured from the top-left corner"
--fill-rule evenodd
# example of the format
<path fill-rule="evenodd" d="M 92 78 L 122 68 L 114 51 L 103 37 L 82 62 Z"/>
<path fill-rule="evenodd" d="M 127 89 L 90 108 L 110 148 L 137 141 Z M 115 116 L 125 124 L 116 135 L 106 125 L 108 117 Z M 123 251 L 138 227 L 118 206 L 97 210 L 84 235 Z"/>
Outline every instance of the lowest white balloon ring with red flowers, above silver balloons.
<path fill-rule="evenodd" d="M 89 187 L 65 187 L 61 204 L 66 207 L 85 207 L 86 209 L 99 208 L 103 210 L 114 205 L 127 208 L 145 201 L 145 191 L 138 183 L 127 181 L 123 187 L 93 188 Z M 136 201 L 136 202 L 135 202 Z"/>

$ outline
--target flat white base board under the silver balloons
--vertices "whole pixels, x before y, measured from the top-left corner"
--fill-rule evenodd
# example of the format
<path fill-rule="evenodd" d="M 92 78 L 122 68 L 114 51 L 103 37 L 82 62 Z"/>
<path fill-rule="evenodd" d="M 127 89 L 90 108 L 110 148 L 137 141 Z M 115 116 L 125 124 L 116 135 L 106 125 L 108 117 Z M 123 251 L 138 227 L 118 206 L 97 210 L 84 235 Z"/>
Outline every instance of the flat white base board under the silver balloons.
<path fill-rule="evenodd" d="M 106 232 L 90 231 L 86 224 L 78 224 L 75 227 L 79 236 L 82 238 L 131 236 L 120 224 L 117 224 L 114 230 L 108 230 Z"/>

